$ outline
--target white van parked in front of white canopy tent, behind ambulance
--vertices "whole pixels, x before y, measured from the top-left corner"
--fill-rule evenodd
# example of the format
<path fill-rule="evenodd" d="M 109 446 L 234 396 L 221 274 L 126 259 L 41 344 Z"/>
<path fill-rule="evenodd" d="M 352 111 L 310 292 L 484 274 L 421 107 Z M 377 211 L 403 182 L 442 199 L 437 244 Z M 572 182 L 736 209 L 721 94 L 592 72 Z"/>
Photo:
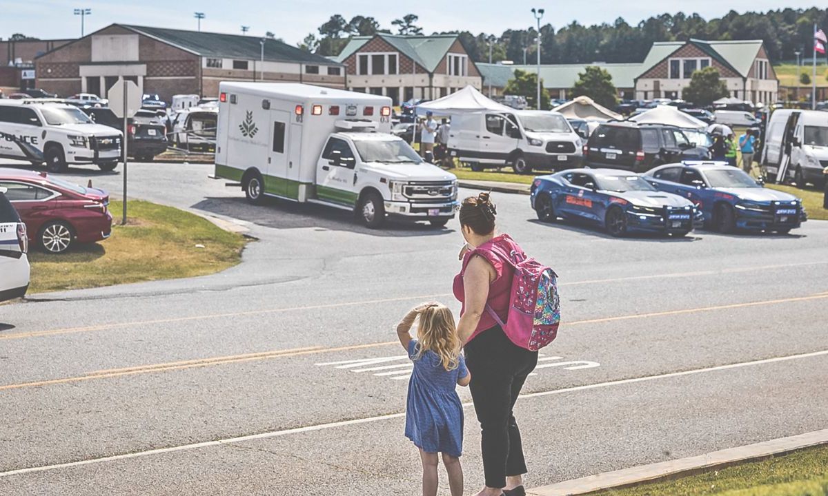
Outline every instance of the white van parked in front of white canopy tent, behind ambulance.
<path fill-rule="evenodd" d="M 583 145 L 561 113 L 516 110 L 452 116 L 448 148 L 475 171 L 511 165 L 517 174 L 528 174 L 579 167 Z"/>

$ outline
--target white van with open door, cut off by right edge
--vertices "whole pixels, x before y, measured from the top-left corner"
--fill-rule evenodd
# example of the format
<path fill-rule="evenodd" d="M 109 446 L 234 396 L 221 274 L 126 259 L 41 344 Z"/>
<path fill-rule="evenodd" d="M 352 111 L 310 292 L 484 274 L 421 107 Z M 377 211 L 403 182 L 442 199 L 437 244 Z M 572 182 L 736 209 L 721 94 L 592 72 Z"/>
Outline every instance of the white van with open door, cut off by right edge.
<path fill-rule="evenodd" d="M 768 118 L 762 150 L 762 163 L 775 177 L 786 156 L 785 177 L 804 186 L 822 186 L 823 169 L 828 167 L 828 112 L 780 108 Z"/>

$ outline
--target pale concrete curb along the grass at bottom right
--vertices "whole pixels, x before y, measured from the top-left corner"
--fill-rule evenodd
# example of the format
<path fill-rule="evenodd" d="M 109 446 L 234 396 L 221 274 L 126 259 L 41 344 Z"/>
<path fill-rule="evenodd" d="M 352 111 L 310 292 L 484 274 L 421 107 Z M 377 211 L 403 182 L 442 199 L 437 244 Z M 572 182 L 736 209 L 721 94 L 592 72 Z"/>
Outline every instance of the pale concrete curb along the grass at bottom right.
<path fill-rule="evenodd" d="M 658 479 L 673 479 L 746 461 L 762 460 L 773 455 L 785 455 L 792 451 L 825 444 L 828 444 L 828 429 L 806 432 L 797 436 L 781 437 L 749 446 L 713 451 L 679 460 L 662 461 L 651 465 L 640 465 L 629 469 L 589 475 L 580 479 L 530 489 L 527 494 L 532 496 L 574 496 L 601 489 L 619 489 L 647 482 L 656 482 Z"/>

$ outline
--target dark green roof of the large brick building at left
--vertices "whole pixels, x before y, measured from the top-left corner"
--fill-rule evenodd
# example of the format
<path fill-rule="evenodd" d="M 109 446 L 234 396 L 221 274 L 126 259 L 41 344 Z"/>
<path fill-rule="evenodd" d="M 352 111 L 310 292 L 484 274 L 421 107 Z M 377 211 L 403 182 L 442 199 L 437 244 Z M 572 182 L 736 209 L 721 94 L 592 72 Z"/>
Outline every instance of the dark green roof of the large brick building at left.
<path fill-rule="evenodd" d="M 126 24 L 116 26 L 149 36 L 202 57 L 260 60 L 262 56 L 262 37 L 260 36 L 228 35 Z M 296 46 L 269 38 L 265 38 L 264 60 L 302 64 L 335 64 L 334 61 L 325 59 L 320 55 L 314 55 L 300 50 Z"/>

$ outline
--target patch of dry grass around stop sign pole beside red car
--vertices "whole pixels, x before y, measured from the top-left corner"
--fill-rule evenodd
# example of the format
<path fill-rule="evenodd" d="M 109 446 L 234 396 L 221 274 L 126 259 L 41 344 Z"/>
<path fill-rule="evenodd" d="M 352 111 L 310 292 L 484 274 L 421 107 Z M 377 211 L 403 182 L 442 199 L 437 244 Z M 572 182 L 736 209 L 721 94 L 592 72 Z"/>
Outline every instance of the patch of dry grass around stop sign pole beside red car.
<path fill-rule="evenodd" d="M 122 204 L 109 205 L 120 219 Z M 214 274 L 238 264 L 243 236 L 189 212 L 132 200 L 126 226 L 106 241 L 76 245 L 63 255 L 30 252 L 29 293 L 98 288 Z"/>

